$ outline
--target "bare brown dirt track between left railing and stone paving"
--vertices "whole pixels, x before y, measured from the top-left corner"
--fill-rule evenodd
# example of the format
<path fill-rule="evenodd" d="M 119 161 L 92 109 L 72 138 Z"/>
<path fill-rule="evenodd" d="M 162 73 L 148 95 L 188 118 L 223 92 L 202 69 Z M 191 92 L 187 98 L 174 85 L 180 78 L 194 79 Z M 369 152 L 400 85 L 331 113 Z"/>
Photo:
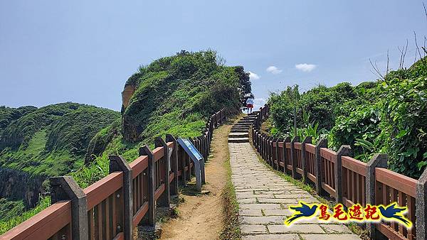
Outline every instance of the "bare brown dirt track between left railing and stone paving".
<path fill-rule="evenodd" d="M 202 190 L 209 195 L 194 195 L 181 192 L 184 203 L 178 207 L 179 217 L 169 219 L 162 227 L 162 239 L 218 239 L 223 229 L 223 199 L 221 191 L 226 185 L 228 159 L 228 133 L 231 125 L 214 130 L 211 156 L 206 164 L 206 185 Z"/>

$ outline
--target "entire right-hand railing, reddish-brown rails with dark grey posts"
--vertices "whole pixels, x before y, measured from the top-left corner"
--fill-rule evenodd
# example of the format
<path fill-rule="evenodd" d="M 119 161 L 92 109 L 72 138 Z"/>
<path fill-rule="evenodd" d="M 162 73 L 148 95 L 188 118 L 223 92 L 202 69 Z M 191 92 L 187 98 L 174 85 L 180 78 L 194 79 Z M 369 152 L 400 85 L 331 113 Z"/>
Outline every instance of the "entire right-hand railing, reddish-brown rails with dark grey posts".
<path fill-rule="evenodd" d="M 273 168 L 316 186 L 319 195 L 328 195 L 346 207 L 353 204 L 382 204 L 397 202 L 408 207 L 406 217 L 413 227 L 380 222 L 367 224 L 371 239 L 427 239 L 427 170 L 415 180 L 387 168 L 386 154 L 377 154 L 369 163 L 352 158 L 349 146 L 335 152 L 322 139 L 316 145 L 311 138 L 300 141 L 273 138 L 260 131 L 268 117 L 268 105 L 260 108 L 251 129 L 252 143 L 260 156 Z M 381 234 L 379 234 L 381 233 Z"/>

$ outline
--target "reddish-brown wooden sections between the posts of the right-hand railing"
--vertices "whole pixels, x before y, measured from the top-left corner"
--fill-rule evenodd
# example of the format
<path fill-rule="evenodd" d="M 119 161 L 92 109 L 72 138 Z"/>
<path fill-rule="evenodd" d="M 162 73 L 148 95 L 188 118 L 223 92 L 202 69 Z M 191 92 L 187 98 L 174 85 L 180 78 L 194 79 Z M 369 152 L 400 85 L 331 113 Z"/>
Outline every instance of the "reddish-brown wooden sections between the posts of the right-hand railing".
<path fill-rule="evenodd" d="M 260 124 L 268 117 L 268 106 L 265 105 L 261 108 L 257 116 L 259 121 L 251 129 L 252 143 L 260 156 L 273 168 L 288 174 L 295 172 L 297 173 L 295 178 L 306 175 L 305 182 L 316 185 L 318 193 L 326 193 L 347 207 L 357 203 L 366 206 L 370 197 L 374 198 L 371 204 L 386 206 L 391 202 L 397 202 L 399 206 L 406 206 L 408 207 L 406 217 L 413 223 L 411 229 L 407 229 L 402 224 L 390 222 L 380 222 L 374 224 L 374 227 L 376 231 L 380 231 L 389 239 L 416 239 L 417 224 L 421 224 L 416 221 L 416 212 L 423 211 L 423 209 L 416 208 L 417 201 L 425 200 L 425 198 L 418 200 L 416 197 L 418 180 L 394 173 L 386 168 L 376 167 L 373 170 L 374 174 L 368 176 L 367 163 L 350 156 L 340 156 L 339 153 L 326 146 L 296 141 L 292 143 L 289 138 L 270 144 L 270 136 L 260 131 Z M 305 158 L 302 155 L 303 145 Z M 271 151 L 279 156 L 270 156 L 268 153 Z M 337 169 L 337 163 L 340 163 L 341 169 Z M 337 179 L 337 173 L 340 173 L 340 179 Z M 423 173 L 423 175 L 426 174 L 426 172 Z M 375 187 L 374 192 L 371 192 L 369 196 L 367 195 L 369 191 L 367 189 L 368 177 L 374 180 Z M 341 192 L 342 195 L 339 196 L 338 192 Z M 423 194 L 426 195 L 426 192 Z M 425 205 L 423 204 L 423 206 Z M 420 226 L 424 228 L 424 225 Z"/>

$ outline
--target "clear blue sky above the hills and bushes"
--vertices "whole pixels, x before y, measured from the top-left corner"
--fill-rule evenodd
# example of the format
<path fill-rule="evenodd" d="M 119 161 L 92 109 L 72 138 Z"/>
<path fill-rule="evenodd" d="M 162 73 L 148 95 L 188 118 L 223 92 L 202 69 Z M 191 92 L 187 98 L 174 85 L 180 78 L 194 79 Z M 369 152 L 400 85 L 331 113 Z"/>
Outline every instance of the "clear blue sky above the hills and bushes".
<path fill-rule="evenodd" d="M 140 64 L 182 49 L 217 50 L 251 71 L 256 103 L 299 84 L 374 80 L 399 66 L 422 1 L 0 1 L 0 105 L 80 102 L 120 110 Z"/>

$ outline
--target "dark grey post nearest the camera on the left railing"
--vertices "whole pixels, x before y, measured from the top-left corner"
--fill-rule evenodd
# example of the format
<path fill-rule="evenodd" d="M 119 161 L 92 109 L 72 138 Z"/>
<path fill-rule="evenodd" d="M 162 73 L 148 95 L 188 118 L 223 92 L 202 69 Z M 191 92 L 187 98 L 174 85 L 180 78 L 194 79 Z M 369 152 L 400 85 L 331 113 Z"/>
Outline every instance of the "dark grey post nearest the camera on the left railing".
<path fill-rule="evenodd" d="M 70 176 L 49 178 L 49 182 L 51 184 L 51 204 L 62 200 L 71 201 L 71 234 L 73 239 L 88 239 L 88 202 L 85 192 Z"/>

